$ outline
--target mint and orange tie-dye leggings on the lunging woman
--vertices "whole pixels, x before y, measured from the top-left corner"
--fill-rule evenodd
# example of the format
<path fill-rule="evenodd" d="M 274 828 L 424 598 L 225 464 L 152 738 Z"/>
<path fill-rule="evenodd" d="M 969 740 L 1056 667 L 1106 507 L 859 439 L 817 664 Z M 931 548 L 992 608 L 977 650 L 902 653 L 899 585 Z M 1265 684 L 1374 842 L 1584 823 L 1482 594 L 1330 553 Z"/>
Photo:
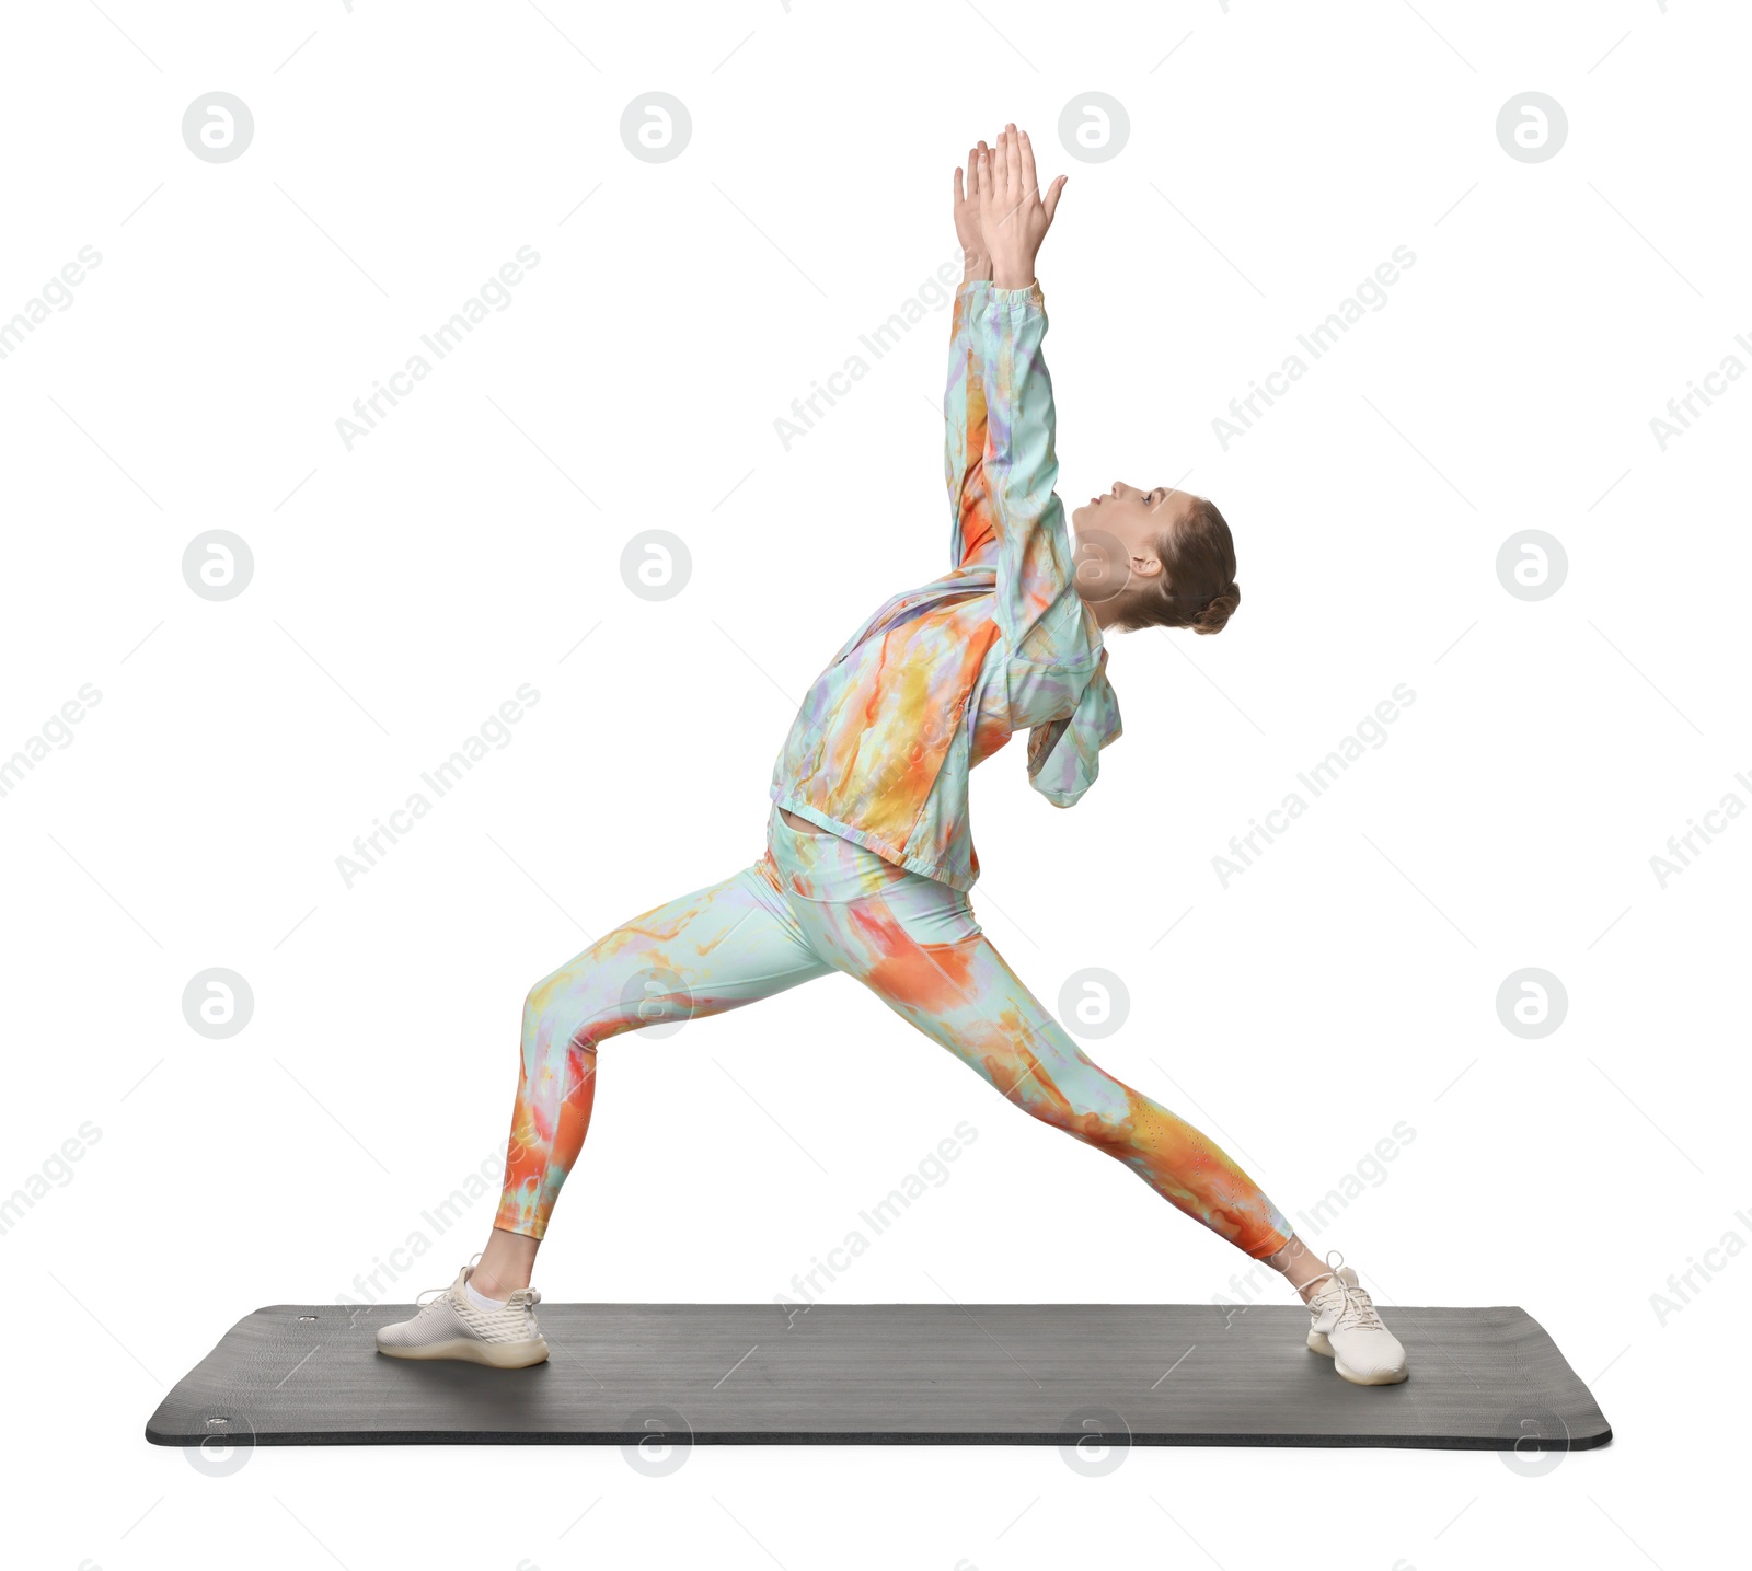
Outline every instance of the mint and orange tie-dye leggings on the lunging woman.
<path fill-rule="evenodd" d="M 634 918 L 529 991 L 494 1226 L 547 1233 L 590 1126 L 604 1040 L 834 970 L 1237 1249 L 1260 1259 L 1289 1242 L 1277 1207 L 1212 1140 L 1083 1054 L 979 932 L 967 895 L 839 835 L 795 830 L 778 809 L 753 867 Z"/>

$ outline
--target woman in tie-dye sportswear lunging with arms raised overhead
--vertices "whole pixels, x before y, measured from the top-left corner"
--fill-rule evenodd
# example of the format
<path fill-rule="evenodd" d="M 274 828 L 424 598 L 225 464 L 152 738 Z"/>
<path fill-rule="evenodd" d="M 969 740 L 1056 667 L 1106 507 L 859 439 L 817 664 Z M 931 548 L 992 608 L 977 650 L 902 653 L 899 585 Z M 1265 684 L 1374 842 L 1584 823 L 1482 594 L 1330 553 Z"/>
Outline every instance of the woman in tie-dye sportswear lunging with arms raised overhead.
<path fill-rule="evenodd" d="M 1263 1259 L 1314 1312 L 1309 1347 L 1346 1380 L 1405 1378 L 1405 1350 L 1349 1266 L 1325 1268 L 1212 1140 L 1095 1065 L 974 919 L 967 776 L 1018 730 L 1028 781 L 1069 807 L 1120 736 L 1109 629 L 1219 632 L 1240 602 L 1223 515 L 1169 487 L 1114 483 L 1065 515 L 1035 252 L 1044 200 L 1007 126 L 955 172 L 967 273 L 950 338 L 950 571 L 895 595 L 816 678 L 773 771 L 766 855 L 592 944 L 524 1004 L 505 1191 L 478 1265 L 377 1345 L 396 1357 L 522 1368 L 547 1357 L 529 1287 L 596 1096 L 597 1049 L 839 970 L 1006 1098 L 1121 1161 L 1163 1200 Z"/>

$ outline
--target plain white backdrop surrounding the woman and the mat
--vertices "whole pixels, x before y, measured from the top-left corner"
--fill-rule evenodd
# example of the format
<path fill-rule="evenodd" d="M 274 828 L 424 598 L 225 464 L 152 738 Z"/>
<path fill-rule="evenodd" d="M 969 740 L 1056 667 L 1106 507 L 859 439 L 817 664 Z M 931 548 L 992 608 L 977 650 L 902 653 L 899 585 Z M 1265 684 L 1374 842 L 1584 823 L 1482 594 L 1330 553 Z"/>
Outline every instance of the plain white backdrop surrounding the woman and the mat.
<path fill-rule="evenodd" d="M 0 1191 L 100 1131 L 0 1235 L 28 1564 L 1715 1553 L 1752 1261 L 1664 1324 L 1650 1294 L 1752 1240 L 1752 825 L 1664 888 L 1650 856 L 1752 802 L 1752 387 L 1666 450 L 1649 422 L 1752 331 L 1748 42 L 1701 0 L 11 11 L 0 317 L 102 254 L 0 361 L 0 753 L 102 694 L 0 799 Z M 180 135 L 215 89 L 256 121 L 231 163 Z M 618 131 L 653 89 L 692 117 L 655 165 Z M 1130 116 L 1107 163 L 1056 138 L 1091 89 Z M 1528 89 L 1568 114 L 1544 163 L 1494 131 Z M 1617 1440 L 1542 1478 L 1158 1450 L 1090 1480 L 1051 1448 L 704 1448 L 661 1480 L 613 1450 L 265 1450 L 212 1478 L 147 1447 L 233 1321 L 356 1294 L 496 1173 L 534 979 L 759 853 L 795 697 L 943 567 L 948 313 L 790 450 L 774 420 L 953 256 L 951 170 L 1006 119 L 1042 184 L 1070 172 L 1039 264 L 1062 494 L 1212 496 L 1244 602 L 1219 639 L 1113 641 L 1127 736 L 1077 811 L 1020 744 L 979 772 L 976 909 L 1048 1004 L 1120 974 L 1095 1056 L 1291 1215 L 1409 1123 L 1321 1247 L 1389 1322 L 1526 1307 Z M 520 245 L 510 308 L 349 452 L 336 419 Z M 1388 305 L 1225 450 L 1212 419 L 1396 245 Z M 692 553 L 664 602 L 618 571 L 650 527 Z M 1496 574 L 1529 527 L 1568 553 L 1544 601 Z M 180 569 L 210 529 L 254 553 L 224 602 Z M 512 743 L 349 888 L 336 856 L 520 683 Z M 1386 744 L 1225 888 L 1230 835 L 1398 683 Z M 180 1009 L 210 967 L 254 991 L 226 1040 Z M 1568 991 L 1540 1040 L 1496 1014 L 1522 967 Z M 603 1060 L 550 1300 L 769 1301 L 962 1119 L 978 1144 L 837 1301 L 1207 1301 L 1246 1266 L 843 979 Z M 377 1296 L 447 1282 L 489 1208 Z"/>

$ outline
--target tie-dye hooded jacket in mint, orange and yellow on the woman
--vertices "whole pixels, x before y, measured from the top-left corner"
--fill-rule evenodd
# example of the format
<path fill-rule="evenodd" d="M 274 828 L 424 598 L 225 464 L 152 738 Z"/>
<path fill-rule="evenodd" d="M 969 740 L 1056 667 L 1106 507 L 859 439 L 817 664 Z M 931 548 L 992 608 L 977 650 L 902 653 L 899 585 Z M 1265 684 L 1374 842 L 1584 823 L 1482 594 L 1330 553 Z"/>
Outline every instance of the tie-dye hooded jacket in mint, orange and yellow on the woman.
<path fill-rule="evenodd" d="M 1107 652 L 1072 583 L 1041 285 L 962 284 L 950 328 L 951 569 L 895 595 L 815 680 L 771 797 L 957 890 L 979 877 L 967 778 L 1028 730 L 1028 783 L 1058 807 L 1120 736 Z"/>

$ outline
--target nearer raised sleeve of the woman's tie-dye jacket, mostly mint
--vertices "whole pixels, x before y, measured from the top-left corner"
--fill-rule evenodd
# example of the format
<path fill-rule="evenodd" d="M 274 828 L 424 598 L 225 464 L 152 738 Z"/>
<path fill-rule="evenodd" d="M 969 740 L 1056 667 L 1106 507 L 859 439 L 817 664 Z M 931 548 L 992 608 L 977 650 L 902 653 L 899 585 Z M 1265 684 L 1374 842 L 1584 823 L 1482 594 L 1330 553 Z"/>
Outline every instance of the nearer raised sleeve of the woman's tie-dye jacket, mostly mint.
<path fill-rule="evenodd" d="M 985 394 L 983 482 L 995 532 L 997 618 L 1016 660 L 1095 664 L 1072 583 L 1070 532 L 1058 482 L 1053 380 L 1041 340 L 1041 285 L 969 296 Z M 965 531 L 964 531 L 965 534 Z"/>

